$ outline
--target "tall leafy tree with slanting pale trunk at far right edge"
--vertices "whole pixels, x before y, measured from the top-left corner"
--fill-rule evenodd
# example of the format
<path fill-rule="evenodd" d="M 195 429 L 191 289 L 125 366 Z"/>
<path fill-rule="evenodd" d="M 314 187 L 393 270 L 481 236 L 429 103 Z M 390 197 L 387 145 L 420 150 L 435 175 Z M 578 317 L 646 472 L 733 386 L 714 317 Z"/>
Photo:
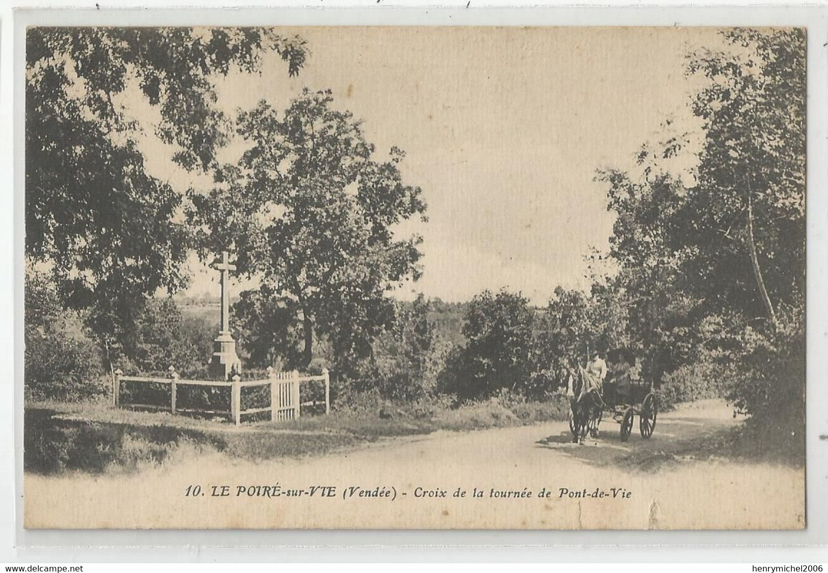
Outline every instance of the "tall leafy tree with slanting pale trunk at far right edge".
<path fill-rule="evenodd" d="M 689 57 L 709 84 L 693 100 L 705 143 L 681 212 L 699 253 L 687 270 L 698 296 L 775 322 L 805 294 L 805 30 L 723 36 L 729 49 Z"/>

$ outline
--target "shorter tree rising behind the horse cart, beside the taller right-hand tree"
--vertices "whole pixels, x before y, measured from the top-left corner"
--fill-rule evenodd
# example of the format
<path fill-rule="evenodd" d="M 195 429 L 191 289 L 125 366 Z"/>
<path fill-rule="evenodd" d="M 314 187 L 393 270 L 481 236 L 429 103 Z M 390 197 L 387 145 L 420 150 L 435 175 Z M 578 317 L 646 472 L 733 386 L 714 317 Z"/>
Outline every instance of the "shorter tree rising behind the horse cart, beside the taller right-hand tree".
<path fill-rule="evenodd" d="M 625 308 L 625 344 L 644 358 L 645 375 L 660 383 L 662 376 L 688 359 L 700 335 L 693 328 L 703 315 L 701 302 L 688 294 L 684 268 L 696 251 L 682 241 L 679 225 L 686 187 L 680 179 L 659 171 L 645 154 L 639 155 L 643 176 L 599 171 L 609 184 L 608 208 L 617 217 L 609 238 L 609 256 L 619 272 L 609 287 Z"/>

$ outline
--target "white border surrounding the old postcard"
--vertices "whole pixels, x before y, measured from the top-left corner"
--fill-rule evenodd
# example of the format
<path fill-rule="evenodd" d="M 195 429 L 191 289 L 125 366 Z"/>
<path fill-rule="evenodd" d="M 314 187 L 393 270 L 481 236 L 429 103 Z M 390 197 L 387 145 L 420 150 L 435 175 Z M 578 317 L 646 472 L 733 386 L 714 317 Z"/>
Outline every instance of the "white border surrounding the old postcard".
<path fill-rule="evenodd" d="M 175 0 L 173 0 L 175 1 Z M 125 10 L 128 2 L 5 0 L 0 44 L 0 562 L 509 560 L 744 561 L 754 564 L 828 561 L 828 9 L 810 7 L 514 8 L 514 2 L 278 2 L 281 9 L 217 10 L 243 0 L 190 3 L 198 10 Z M 276 2 L 268 2 L 273 6 Z M 434 3 L 434 2 L 432 2 Z M 607 4 L 609 2 L 601 2 Z M 132 3 L 132 6 L 135 4 Z M 170 0 L 143 2 L 167 8 Z M 262 3 L 262 5 L 264 5 Z M 587 7 L 586 5 L 590 5 Z M 80 7 L 74 12 L 24 12 L 25 7 Z M 304 8 L 302 6 L 305 6 Z M 346 6 L 356 7 L 345 9 Z M 320 9 L 321 8 L 321 9 Z M 26 23 L 51 24 L 431 24 L 431 25 L 753 25 L 808 27 L 808 528 L 804 532 L 126 532 L 25 531 L 22 491 L 22 237 L 23 52 Z M 797 547 L 794 547 L 797 546 Z M 821 547 L 820 547 L 821 546 Z M 244 548 L 241 548 L 244 547 Z M 103 571 L 99 569 L 98 571 Z M 663 570 L 662 570 L 663 571 Z M 739 568 L 739 571 L 750 571 Z"/>

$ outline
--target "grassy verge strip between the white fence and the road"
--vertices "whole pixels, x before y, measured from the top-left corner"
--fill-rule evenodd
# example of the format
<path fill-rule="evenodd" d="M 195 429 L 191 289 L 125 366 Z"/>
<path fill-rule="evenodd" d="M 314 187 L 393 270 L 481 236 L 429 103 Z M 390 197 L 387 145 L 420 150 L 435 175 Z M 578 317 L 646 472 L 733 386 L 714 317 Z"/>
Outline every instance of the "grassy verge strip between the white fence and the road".
<path fill-rule="evenodd" d="M 24 469 L 37 474 L 132 472 L 207 451 L 245 460 L 298 458 L 396 436 L 565 420 L 568 410 L 561 396 L 549 402 L 493 399 L 456 408 L 446 402 L 392 405 L 374 399 L 329 416 L 236 427 L 227 421 L 102 403 L 37 402 L 25 410 Z"/>

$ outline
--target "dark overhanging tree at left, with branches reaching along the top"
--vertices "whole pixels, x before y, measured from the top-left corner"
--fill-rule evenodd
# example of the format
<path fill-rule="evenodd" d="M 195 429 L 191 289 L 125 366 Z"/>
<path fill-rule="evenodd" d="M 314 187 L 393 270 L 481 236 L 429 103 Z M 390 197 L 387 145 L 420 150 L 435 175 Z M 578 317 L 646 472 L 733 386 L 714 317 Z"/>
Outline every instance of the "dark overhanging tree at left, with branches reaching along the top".
<path fill-rule="evenodd" d="M 214 79 L 253 73 L 275 51 L 296 75 L 304 42 L 263 28 L 33 27 L 26 33 L 26 258 L 50 268 L 70 308 L 94 310 L 104 345 L 130 329 L 142 299 L 185 282 L 182 193 L 147 172 L 153 126 L 186 169 L 210 169 L 227 142 Z M 118 323 L 118 327 L 116 327 Z"/>

